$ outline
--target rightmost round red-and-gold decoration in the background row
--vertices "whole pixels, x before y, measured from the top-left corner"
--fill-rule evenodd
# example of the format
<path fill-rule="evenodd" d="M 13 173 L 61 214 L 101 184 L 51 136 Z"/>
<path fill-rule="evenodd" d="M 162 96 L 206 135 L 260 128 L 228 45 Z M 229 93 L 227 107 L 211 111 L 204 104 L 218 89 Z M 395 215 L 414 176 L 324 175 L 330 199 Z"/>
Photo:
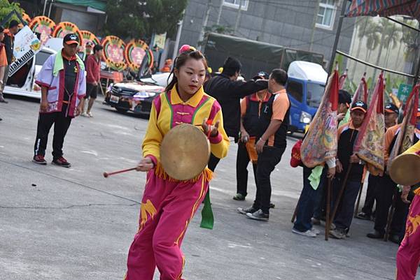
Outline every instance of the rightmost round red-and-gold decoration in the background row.
<path fill-rule="evenodd" d="M 127 66 L 130 67 L 132 71 L 139 70 L 143 59 L 148 59 L 149 64 L 152 62 L 153 65 L 153 56 L 150 57 L 148 45 L 144 43 L 143 40 L 130 40 L 130 43 L 125 46 L 124 57 Z"/>

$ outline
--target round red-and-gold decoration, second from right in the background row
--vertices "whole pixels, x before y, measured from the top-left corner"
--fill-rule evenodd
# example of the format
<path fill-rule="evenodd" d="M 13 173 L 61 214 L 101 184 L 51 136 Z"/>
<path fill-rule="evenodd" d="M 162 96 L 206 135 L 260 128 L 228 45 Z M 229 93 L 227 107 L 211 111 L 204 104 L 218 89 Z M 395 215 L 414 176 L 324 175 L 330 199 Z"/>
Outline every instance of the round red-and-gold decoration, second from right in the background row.
<path fill-rule="evenodd" d="M 116 70 L 123 71 L 127 68 L 127 64 L 124 59 L 125 43 L 117 36 L 106 36 L 102 40 L 102 46 L 104 47 L 104 57 L 106 64 Z"/>

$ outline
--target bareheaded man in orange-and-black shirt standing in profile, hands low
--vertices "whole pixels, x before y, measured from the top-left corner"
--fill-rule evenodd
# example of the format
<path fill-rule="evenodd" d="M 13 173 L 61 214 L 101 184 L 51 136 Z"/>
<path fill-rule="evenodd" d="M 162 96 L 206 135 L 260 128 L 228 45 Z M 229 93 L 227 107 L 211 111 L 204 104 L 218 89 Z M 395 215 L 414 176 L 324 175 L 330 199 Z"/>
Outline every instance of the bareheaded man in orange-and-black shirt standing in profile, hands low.
<path fill-rule="evenodd" d="M 268 91 L 273 95 L 264 105 L 260 115 L 260 132 L 255 149 L 258 152 L 257 193 L 253 205 L 243 210 L 248 218 L 268 221 L 271 198 L 269 176 L 286 149 L 286 135 L 290 101 L 286 93 L 288 75 L 283 69 L 274 69 L 269 75 Z"/>

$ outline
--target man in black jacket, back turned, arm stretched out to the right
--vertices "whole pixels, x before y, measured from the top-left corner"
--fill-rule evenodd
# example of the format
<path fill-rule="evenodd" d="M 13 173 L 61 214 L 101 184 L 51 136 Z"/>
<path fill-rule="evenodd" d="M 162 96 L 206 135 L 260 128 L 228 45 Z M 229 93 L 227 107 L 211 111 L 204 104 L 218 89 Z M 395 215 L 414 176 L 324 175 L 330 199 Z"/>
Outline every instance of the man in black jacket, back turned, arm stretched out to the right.
<path fill-rule="evenodd" d="M 204 91 L 216 98 L 221 104 L 223 112 L 223 126 L 229 137 L 239 139 L 241 105 L 240 100 L 261 89 L 267 89 L 267 80 L 249 80 L 248 82 L 237 81 L 241 63 L 232 57 L 228 57 L 223 65 L 223 72 L 211 78 L 204 84 Z M 214 171 L 220 159 L 211 154 L 209 168 Z"/>

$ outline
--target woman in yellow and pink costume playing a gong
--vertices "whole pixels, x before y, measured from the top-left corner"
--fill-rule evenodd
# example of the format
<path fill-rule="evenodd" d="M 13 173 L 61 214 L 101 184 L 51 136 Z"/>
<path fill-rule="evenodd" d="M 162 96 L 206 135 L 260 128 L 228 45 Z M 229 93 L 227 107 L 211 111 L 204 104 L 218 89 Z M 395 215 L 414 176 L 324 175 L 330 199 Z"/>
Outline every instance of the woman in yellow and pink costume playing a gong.
<path fill-rule="evenodd" d="M 169 177 L 160 164 L 160 144 L 174 126 L 201 125 L 209 135 L 211 153 L 219 159 L 228 154 L 229 139 L 223 129 L 221 106 L 202 87 L 206 69 L 202 53 L 183 45 L 174 61 L 172 82 L 153 101 L 142 145 L 144 159 L 137 166 L 137 170 L 147 172 L 146 186 L 125 280 L 152 280 L 156 266 L 160 280 L 182 277 L 185 258 L 181 242 L 207 193 L 212 172 L 206 168 L 194 179 L 182 182 Z"/>

